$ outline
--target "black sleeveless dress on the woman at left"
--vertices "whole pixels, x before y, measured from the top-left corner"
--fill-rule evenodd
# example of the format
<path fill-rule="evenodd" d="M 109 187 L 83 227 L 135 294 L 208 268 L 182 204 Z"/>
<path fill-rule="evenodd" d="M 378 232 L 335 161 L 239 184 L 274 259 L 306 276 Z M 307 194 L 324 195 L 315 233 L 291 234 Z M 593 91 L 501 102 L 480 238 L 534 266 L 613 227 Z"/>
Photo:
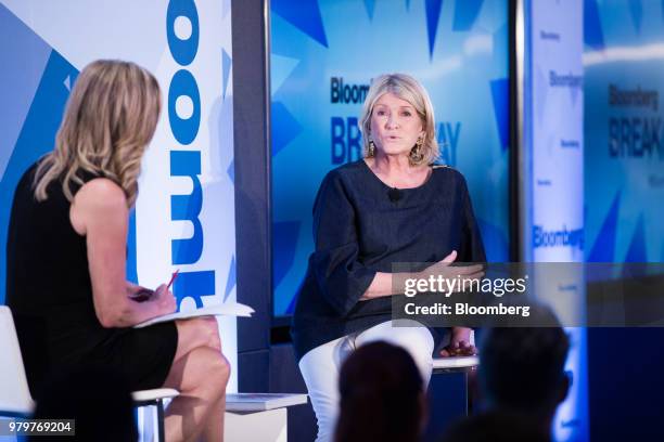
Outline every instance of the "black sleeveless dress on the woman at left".
<path fill-rule="evenodd" d="M 36 166 L 14 193 L 7 244 L 7 303 L 33 396 L 49 375 L 80 365 L 114 369 L 133 390 L 162 387 L 178 344 L 175 323 L 140 329 L 101 325 L 86 237 L 72 226 L 71 204 L 59 180 L 49 185 L 47 200 L 35 199 Z M 95 177 L 81 178 L 87 182 Z"/>

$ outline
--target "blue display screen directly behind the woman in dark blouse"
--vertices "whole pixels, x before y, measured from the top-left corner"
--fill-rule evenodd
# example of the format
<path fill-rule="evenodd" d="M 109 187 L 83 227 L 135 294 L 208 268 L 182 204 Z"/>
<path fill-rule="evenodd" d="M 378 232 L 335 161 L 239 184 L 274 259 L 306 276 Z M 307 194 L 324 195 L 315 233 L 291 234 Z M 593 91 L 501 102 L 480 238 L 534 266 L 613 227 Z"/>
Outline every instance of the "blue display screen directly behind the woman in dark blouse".
<path fill-rule="evenodd" d="M 360 157 L 357 118 L 383 73 L 429 90 L 442 162 L 469 182 L 489 260 L 507 260 L 507 1 L 272 0 L 270 26 L 276 315 L 293 310 L 316 192 L 327 171 Z"/>

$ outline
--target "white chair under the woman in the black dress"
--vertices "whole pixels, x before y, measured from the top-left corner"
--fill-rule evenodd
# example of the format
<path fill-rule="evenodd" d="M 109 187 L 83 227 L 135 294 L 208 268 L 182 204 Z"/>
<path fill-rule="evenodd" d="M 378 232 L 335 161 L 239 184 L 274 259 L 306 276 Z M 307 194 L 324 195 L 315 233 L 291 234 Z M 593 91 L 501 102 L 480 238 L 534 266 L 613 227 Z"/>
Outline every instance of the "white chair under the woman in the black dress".
<path fill-rule="evenodd" d="M 28 389 L 14 318 L 7 306 L 0 306 L 0 416 L 29 417 L 35 410 L 35 401 Z M 157 435 L 159 441 L 164 441 L 164 400 L 180 393 L 171 388 L 157 388 L 131 394 L 136 406 L 156 406 Z"/>

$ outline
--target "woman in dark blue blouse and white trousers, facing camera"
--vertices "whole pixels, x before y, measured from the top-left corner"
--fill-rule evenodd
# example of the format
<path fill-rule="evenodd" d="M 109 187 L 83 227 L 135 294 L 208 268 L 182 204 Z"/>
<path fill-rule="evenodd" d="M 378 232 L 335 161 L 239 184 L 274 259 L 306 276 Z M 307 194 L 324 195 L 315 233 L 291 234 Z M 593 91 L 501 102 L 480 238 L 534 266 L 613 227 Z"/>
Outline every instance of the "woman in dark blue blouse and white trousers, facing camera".
<path fill-rule="evenodd" d="M 362 343 L 386 340 L 406 348 L 429 382 L 434 338 L 420 324 L 393 326 L 392 264 L 444 269 L 456 260 L 485 261 L 465 180 L 433 166 L 434 121 L 431 100 L 412 77 L 375 78 L 360 122 L 365 158 L 332 170 L 318 192 L 316 250 L 292 334 L 319 441 L 332 439 L 341 364 Z M 470 332 L 454 328 L 443 355 L 473 353 Z"/>

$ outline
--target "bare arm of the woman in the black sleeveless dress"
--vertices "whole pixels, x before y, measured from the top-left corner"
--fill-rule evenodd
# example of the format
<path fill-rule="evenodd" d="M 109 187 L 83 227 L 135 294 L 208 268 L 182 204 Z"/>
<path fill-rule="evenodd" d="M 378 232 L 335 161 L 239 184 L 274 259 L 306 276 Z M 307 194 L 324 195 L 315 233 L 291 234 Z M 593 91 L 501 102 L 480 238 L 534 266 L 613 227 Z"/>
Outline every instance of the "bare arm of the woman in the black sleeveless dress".
<path fill-rule="evenodd" d="M 175 311 L 175 298 L 165 287 L 154 301 L 139 303 L 127 297 L 128 209 L 117 184 L 103 178 L 86 183 L 74 198 L 69 219 L 86 235 L 94 311 L 104 327 L 128 327 Z"/>

